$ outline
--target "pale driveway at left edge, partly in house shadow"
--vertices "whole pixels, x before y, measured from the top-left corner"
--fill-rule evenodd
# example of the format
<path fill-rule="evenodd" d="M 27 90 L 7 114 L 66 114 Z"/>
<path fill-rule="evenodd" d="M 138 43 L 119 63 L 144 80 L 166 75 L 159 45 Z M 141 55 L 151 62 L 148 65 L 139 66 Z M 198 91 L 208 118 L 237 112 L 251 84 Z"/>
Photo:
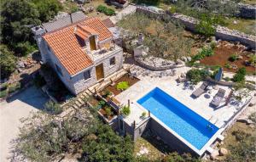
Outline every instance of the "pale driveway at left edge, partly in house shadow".
<path fill-rule="evenodd" d="M 31 111 L 42 109 L 48 101 L 37 87 L 28 87 L 11 98 L 0 103 L 0 161 L 10 161 L 11 141 L 19 134 L 22 126 L 20 118 L 27 117 Z"/>

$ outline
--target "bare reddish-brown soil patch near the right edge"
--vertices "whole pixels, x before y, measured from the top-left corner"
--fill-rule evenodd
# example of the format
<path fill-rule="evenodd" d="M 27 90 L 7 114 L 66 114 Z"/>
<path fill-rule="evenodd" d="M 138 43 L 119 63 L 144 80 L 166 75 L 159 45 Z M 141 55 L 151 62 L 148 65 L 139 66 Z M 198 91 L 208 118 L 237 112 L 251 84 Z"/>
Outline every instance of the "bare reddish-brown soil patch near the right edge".
<path fill-rule="evenodd" d="M 242 59 L 238 59 L 234 62 L 230 62 L 229 58 L 232 54 L 239 53 L 240 48 L 238 46 L 226 47 L 224 44 L 221 44 L 219 47 L 214 49 L 214 54 L 210 57 L 205 57 L 201 60 L 201 64 L 206 65 L 220 65 L 224 68 L 225 71 L 236 72 L 239 68 L 245 67 L 247 72 L 253 73 L 256 69 L 253 66 L 245 66 L 245 60 L 249 60 L 249 55 L 253 54 L 247 51 L 241 53 Z M 236 64 L 237 69 L 228 69 L 224 67 L 225 64 Z"/>

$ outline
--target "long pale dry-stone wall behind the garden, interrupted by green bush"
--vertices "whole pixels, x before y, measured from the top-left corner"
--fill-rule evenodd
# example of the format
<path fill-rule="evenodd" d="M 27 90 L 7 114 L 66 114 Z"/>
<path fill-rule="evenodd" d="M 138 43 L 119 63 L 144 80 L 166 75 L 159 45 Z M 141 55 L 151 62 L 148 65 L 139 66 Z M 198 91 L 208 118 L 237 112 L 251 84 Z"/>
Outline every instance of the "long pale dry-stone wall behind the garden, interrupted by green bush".
<path fill-rule="evenodd" d="M 196 32 L 196 24 L 198 20 L 195 18 L 189 17 L 183 14 L 171 14 L 169 11 L 166 11 L 165 14 L 155 13 L 147 7 L 137 7 L 137 12 L 147 14 L 149 17 L 160 18 L 162 20 L 177 20 L 181 22 L 186 29 L 189 31 Z M 256 49 L 256 36 L 247 35 L 240 31 L 230 30 L 224 26 L 219 26 L 216 29 L 215 36 L 218 39 L 230 42 L 241 42 L 241 44 L 247 46 L 248 48 Z"/>

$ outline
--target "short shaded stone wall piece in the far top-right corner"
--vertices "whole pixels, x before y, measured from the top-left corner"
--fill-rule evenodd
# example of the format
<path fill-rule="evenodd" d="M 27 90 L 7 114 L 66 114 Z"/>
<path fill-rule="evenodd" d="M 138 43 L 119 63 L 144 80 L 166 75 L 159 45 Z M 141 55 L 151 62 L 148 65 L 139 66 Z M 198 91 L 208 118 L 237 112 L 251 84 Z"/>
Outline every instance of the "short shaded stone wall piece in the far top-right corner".
<path fill-rule="evenodd" d="M 239 16 L 247 19 L 255 19 L 256 6 L 250 4 L 238 3 Z"/>

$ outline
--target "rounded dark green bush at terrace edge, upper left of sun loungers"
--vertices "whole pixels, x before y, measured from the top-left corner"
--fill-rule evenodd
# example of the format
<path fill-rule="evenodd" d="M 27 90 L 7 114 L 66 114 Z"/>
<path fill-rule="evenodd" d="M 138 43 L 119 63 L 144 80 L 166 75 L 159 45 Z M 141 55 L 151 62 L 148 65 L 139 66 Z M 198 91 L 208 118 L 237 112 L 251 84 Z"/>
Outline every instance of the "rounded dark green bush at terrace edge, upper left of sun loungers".
<path fill-rule="evenodd" d="M 191 81 L 192 84 L 197 84 L 198 82 L 202 81 L 203 79 L 207 78 L 210 73 L 207 70 L 189 70 L 186 74 L 186 77 Z"/>

